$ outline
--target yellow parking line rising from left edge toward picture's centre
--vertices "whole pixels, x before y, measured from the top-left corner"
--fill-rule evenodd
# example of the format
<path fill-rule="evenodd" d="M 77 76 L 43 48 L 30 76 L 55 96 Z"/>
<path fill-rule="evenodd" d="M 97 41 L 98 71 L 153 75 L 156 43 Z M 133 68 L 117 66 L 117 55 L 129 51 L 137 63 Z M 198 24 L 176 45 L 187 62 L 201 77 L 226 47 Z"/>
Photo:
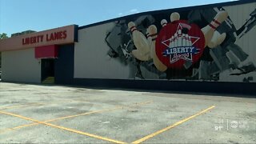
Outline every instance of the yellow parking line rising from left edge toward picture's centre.
<path fill-rule="evenodd" d="M 146 105 L 148 103 L 150 103 L 150 102 L 140 102 L 140 103 L 133 104 L 131 106 L 142 106 L 142 105 Z M 50 120 L 47 120 L 47 121 L 44 121 L 44 122 L 54 122 L 54 121 L 58 121 L 58 120 L 65 119 L 65 118 L 74 118 L 74 117 L 87 115 L 87 114 L 97 114 L 97 113 L 102 113 L 102 112 L 110 111 L 110 110 L 119 110 L 119 109 L 122 109 L 123 107 L 128 107 L 128 106 L 117 106 L 117 107 L 114 107 L 114 108 L 111 108 L 111 109 L 95 110 L 95 111 L 90 111 L 90 112 L 87 112 L 87 113 L 75 114 L 75 115 L 70 115 L 70 116 L 66 116 L 66 117 L 62 117 L 62 118 L 54 118 L 54 119 L 50 119 Z M 16 127 L 9 128 L 9 129 L 6 129 L 6 130 L 0 130 L 0 133 L 4 133 L 8 130 L 16 130 L 16 129 L 20 129 L 20 128 L 23 128 L 23 127 L 26 127 L 26 126 L 34 126 L 34 125 L 38 125 L 38 124 L 39 124 L 38 122 L 35 122 L 35 123 L 27 124 L 27 125 L 16 126 Z"/>

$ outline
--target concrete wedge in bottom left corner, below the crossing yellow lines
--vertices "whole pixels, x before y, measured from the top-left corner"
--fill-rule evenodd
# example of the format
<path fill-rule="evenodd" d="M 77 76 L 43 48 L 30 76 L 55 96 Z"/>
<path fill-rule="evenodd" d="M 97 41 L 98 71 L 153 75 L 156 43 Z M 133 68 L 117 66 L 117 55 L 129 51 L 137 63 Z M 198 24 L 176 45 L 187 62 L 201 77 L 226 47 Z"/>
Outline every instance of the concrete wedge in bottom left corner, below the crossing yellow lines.
<path fill-rule="evenodd" d="M 10 135 L 12 135 L 10 137 Z M 106 143 L 82 134 L 73 134 L 51 126 L 29 126 L 0 134 L 1 143 Z"/>

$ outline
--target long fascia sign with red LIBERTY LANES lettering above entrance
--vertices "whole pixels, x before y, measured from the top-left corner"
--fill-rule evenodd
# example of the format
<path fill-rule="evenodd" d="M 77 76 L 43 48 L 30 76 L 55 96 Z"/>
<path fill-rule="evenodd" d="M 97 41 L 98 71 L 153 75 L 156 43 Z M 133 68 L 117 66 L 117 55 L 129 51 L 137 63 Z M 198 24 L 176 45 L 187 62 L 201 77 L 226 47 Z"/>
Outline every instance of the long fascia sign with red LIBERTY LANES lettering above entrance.
<path fill-rule="evenodd" d="M 0 51 L 22 50 L 38 46 L 62 45 L 77 42 L 78 26 L 63 26 L 52 30 L 24 34 L 0 41 Z"/>

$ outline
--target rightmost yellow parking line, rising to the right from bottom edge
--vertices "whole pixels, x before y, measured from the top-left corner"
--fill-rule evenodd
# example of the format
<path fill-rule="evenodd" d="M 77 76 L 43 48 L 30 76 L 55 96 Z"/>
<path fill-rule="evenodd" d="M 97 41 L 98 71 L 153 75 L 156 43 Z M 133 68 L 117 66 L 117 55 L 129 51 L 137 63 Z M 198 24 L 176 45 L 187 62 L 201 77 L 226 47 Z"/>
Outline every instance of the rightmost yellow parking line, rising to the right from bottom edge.
<path fill-rule="evenodd" d="M 211 110 L 211 109 L 213 109 L 214 107 L 215 107 L 215 106 L 210 106 L 209 108 L 207 108 L 206 110 L 202 110 L 202 111 L 199 112 L 198 114 L 194 114 L 194 115 L 192 115 L 192 116 L 190 116 L 190 117 L 188 117 L 188 118 L 183 119 L 182 121 L 176 122 L 176 123 L 174 123 L 173 125 L 167 126 L 166 128 L 164 128 L 164 129 L 162 129 L 162 130 L 158 130 L 158 131 L 154 132 L 153 134 L 149 134 L 149 135 L 147 135 L 146 137 L 140 138 L 140 139 L 138 139 L 138 140 L 136 140 L 136 141 L 134 141 L 134 142 L 132 142 L 132 143 L 141 143 L 141 142 L 144 142 L 144 141 L 146 141 L 146 140 L 148 140 L 148 139 L 150 139 L 150 138 L 153 138 L 154 136 L 156 136 L 156 135 L 158 135 L 158 134 L 161 134 L 161 133 L 165 132 L 166 130 L 170 130 L 171 128 L 174 128 L 175 126 L 178 126 L 178 125 L 182 124 L 183 122 L 186 122 L 186 121 L 188 121 L 188 120 L 190 120 L 190 119 L 192 119 L 192 118 L 197 117 L 198 115 L 201 115 L 201 114 L 203 114 L 203 113 L 206 113 L 206 111 Z"/>

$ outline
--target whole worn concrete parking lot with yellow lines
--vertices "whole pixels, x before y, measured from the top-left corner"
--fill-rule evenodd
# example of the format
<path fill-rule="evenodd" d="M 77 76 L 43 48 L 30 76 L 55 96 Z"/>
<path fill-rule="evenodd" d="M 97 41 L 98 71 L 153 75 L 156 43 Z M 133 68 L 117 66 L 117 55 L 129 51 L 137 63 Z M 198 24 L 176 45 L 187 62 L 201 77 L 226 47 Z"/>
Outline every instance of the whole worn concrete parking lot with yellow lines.
<path fill-rule="evenodd" d="M 242 97 L 0 82 L 0 143 L 255 143 Z"/>

